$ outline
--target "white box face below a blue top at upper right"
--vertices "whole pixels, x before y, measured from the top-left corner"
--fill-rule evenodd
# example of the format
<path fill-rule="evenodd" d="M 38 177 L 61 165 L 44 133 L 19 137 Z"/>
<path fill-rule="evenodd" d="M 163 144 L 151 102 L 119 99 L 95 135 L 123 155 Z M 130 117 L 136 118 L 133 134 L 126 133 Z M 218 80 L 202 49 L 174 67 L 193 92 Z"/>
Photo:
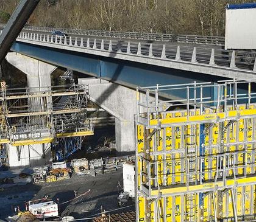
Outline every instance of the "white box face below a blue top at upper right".
<path fill-rule="evenodd" d="M 226 9 L 225 49 L 256 49 L 256 8 L 239 7 Z"/>

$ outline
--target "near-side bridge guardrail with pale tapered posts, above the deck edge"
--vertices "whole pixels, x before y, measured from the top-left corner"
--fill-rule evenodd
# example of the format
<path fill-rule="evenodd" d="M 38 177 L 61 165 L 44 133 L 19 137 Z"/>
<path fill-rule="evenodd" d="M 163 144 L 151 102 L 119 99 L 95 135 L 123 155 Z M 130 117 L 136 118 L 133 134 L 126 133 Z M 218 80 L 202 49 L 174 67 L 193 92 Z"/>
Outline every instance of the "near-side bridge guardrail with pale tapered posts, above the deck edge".
<path fill-rule="evenodd" d="M 53 35 L 28 32 L 21 32 L 17 40 L 29 41 L 32 44 L 45 44 L 48 47 L 59 48 L 62 46 L 69 47 L 70 50 L 90 50 L 90 52 L 87 53 L 92 54 L 112 52 L 119 55 L 132 55 L 136 57 L 135 61 L 140 61 L 140 59 L 146 57 L 154 59 L 155 61 L 185 62 L 186 64 L 196 64 L 196 66 L 207 65 L 207 67 L 212 66 L 221 69 L 239 70 L 240 72 L 246 71 L 247 73 L 253 72 L 254 74 L 256 71 L 255 52 L 244 53 L 243 51 L 235 50 L 90 38 L 86 38 L 87 41 L 85 41 L 82 36 L 75 38 L 71 36 L 57 38 L 57 36 Z"/>

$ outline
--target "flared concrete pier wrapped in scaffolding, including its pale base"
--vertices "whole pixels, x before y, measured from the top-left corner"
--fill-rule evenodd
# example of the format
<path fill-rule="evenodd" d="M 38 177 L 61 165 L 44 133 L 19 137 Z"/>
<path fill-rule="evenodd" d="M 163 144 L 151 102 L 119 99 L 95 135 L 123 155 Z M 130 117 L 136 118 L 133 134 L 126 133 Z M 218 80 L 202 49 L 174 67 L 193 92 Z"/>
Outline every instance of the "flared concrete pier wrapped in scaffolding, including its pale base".
<path fill-rule="evenodd" d="M 38 91 L 38 87 L 45 87 L 41 88 L 42 91 L 45 91 L 48 86 L 51 86 L 51 73 L 57 68 L 56 66 L 25 55 L 16 54 L 15 52 L 7 54 L 6 60 L 26 74 L 27 87 L 35 87 L 35 89 L 30 89 L 31 92 Z M 40 109 L 40 106 L 44 106 L 39 100 L 31 100 L 30 103 L 31 107 L 34 106 L 33 109 Z M 34 121 L 37 122 L 38 119 L 34 119 Z M 10 168 L 34 167 L 48 164 L 51 161 L 49 145 L 33 144 L 19 147 L 9 145 Z"/>

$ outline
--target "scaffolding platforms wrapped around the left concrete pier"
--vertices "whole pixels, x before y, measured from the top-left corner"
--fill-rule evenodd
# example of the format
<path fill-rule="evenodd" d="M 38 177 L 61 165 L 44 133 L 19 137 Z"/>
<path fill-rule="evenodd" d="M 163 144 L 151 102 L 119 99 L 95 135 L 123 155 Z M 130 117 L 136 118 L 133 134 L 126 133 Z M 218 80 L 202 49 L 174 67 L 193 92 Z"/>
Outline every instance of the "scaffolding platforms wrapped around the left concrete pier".
<path fill-rule="evenodd" d="M 7 88 L 2 84 L 0 144 L 19 147 L 93 135 L 87 99 L 88 86 L 74 83 L 38 88 Z"/>

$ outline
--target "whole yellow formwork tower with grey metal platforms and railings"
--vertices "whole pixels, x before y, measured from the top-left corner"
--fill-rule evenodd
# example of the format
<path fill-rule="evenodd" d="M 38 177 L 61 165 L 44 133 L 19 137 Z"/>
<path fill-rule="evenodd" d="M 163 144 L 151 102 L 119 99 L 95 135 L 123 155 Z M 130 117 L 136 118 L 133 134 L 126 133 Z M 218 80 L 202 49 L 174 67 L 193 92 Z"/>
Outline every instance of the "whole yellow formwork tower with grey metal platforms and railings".
<path fill-rule="evenodd" d="M 232 80 L 137 88 L 137 221 L 255 219 L 253 86 Z"/>

